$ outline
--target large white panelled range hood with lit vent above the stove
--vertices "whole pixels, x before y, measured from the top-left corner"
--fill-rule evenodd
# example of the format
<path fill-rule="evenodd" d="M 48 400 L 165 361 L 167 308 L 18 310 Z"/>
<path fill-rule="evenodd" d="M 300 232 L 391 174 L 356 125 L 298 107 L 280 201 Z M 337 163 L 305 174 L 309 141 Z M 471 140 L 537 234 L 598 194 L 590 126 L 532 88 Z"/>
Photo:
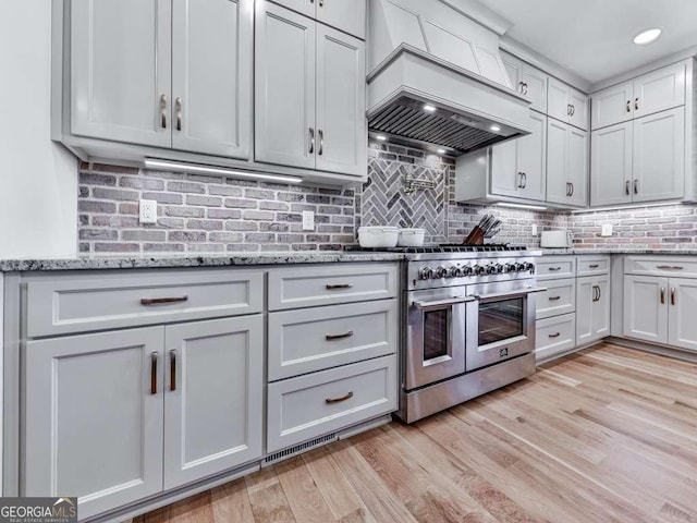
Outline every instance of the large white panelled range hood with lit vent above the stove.
<path fill-rule="evenodd" d="M 531 132 L 499 53 L 505 20 L 475 0 L 368 5 L 371 137 L 460 156 Z"/>

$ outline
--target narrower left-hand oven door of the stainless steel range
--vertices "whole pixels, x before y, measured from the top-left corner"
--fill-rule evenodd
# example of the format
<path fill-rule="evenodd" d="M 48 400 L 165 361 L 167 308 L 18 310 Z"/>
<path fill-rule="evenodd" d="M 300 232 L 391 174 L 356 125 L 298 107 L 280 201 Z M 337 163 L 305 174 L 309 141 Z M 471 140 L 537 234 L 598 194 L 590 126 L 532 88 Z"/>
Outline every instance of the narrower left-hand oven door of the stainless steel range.
<path fill-rule="evenodd" d="M 412 291 L 407 295 L 406 351 L 407 390 L 435 384 L 465 372 L 466 288 Z"/>

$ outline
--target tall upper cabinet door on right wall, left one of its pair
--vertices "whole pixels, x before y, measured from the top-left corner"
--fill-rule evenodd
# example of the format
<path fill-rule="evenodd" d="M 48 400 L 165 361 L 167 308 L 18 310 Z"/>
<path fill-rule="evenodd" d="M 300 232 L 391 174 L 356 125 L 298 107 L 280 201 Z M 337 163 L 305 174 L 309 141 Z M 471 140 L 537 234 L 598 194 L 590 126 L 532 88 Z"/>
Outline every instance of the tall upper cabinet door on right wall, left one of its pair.
<path fill-rule="evenodd" d="M 632 202 L 633 122 L 590 134 L 590 205 Z"/>

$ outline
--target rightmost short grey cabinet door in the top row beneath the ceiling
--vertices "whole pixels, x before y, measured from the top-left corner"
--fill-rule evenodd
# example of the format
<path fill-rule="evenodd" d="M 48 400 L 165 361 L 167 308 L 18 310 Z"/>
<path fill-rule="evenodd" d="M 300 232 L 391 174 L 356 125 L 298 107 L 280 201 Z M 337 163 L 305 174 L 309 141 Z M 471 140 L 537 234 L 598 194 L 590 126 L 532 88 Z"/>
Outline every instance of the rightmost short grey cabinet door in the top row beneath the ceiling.
<path fill-rule="evenodd" d="M 645 117 L 685 104 L 685 64 L 676 63 L 634 81 L 634 115 Z"/>

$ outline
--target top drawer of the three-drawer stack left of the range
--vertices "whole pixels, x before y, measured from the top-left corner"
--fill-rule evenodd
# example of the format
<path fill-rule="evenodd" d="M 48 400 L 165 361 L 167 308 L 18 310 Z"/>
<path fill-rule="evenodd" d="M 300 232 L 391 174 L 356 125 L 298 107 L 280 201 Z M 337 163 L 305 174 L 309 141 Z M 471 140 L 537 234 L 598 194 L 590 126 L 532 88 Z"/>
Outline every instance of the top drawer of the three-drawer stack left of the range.
<path fill-rule="evenodd" d="M 269 311 L 395 297 L 395 264 L 327 264 L 269 271 Z"/>

